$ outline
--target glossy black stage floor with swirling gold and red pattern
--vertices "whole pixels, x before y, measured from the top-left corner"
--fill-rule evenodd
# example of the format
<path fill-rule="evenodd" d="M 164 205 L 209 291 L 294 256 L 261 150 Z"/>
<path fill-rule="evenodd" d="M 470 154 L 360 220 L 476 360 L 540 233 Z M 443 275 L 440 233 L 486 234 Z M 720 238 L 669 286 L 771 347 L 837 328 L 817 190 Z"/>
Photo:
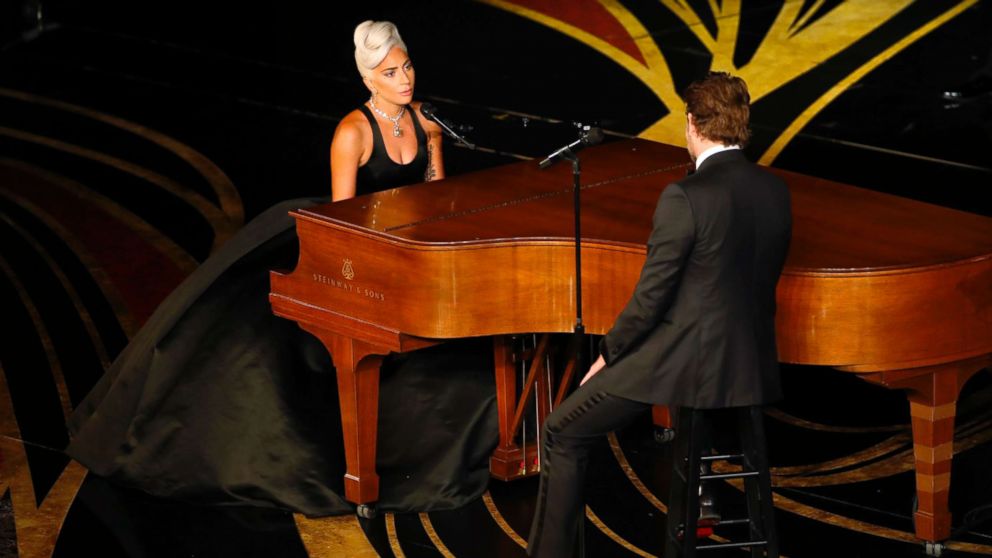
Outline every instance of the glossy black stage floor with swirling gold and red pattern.
<path fill-rule="evenodd" d="M 199 262 L 273 203 L 329 195 L 334 127 L 367 97 L 363 19 L 398 24 L 416 97 L 479 144 L 446 140 L 449 175 L 543 157 L 576 123 L 680 144 L 677 92 L 712 67 L 751 87 L 754 160 L 992 216 L 992 90 L 945 95 L 992 75 L 989 2 L 316 4 L 42 3 L 40 29 L 0 35 L 0 555 L 525 555 L 535 478 L 458 510 L 306 518 L 153 498 L 62 451 Z M 922 555 L 905 396 L 826 368 L 783 381 L 766 421 L 783 555 Z M 992 555 L 988 370 L 957 411 L 946 555 Z M 588 556 L 661 553 L 670 453 L 650 417 L 603 440 Z"/>

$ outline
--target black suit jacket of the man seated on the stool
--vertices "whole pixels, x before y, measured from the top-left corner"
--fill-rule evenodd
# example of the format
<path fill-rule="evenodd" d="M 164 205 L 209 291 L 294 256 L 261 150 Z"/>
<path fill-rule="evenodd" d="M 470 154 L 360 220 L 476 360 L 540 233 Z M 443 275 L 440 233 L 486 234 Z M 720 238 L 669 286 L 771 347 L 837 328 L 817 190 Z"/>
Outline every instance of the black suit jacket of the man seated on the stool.
<path fill-rule="evenodd" d="M 603 338 L 606 391 L 697 408 L 782 395 L 775 285 L 792 231 L 789 191 L 740 150 L 669 184 L 630 302 Z"/>

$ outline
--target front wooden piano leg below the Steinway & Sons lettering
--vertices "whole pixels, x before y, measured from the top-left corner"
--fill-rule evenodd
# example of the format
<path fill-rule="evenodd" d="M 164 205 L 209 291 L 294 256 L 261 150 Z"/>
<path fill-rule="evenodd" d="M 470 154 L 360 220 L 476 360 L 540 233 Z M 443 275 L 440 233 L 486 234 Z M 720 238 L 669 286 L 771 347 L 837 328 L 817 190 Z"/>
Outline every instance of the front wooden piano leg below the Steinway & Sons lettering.
<path fill-rule="evenodd" d="M 344 496 L 349 502 L 370 504 L 379 499 L 375 448 L 379 424 L 379 367 L 388 349 L 326 330 L 306 328 L 320 339 L 337 370 L 341 428 L 348 469 Z M 370 509 L 366 506 L 365 509 Z M 374 513 L 374 512 L 373 512 Z"/>

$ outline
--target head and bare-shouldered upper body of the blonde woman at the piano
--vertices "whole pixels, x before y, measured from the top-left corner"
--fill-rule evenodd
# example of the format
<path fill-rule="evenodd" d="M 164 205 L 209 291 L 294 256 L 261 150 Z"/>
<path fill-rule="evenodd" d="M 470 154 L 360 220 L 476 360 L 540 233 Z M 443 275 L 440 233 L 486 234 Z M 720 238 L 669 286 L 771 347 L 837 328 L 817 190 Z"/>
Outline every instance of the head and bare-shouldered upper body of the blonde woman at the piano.
<path fill-rule="evenodd" d="M 331 143 L 334 201 L 444 178 L 441 128 L 413 100 L 415 73 L 396 26 L 355 28 L 355 62 L 371 97 L 350 112 Z"/>

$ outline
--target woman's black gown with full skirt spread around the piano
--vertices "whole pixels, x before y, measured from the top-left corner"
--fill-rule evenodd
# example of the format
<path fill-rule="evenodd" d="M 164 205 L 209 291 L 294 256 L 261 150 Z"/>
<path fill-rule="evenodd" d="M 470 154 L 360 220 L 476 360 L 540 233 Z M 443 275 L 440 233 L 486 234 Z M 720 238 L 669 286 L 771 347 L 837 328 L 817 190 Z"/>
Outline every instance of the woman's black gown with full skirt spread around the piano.
<path fill-rule="evenodd" d="M 362 109 L 374 147 L 357 193 L 422 181 L 427 138 L 416 118 L 417 157 L 401 165 Z M 287 212 L 326 201 L 266 210 L 183 281 L 76 408 L 66 452 L 157 496 L 351 512 L 330 356 L 268 302 L 269 270 L 292 269 L 298 256 Z M 475 339 L 386 359 L 380 509 L 450 509 L 485 490 L 498 437 L 491 354 L 488 340 Z"/>

